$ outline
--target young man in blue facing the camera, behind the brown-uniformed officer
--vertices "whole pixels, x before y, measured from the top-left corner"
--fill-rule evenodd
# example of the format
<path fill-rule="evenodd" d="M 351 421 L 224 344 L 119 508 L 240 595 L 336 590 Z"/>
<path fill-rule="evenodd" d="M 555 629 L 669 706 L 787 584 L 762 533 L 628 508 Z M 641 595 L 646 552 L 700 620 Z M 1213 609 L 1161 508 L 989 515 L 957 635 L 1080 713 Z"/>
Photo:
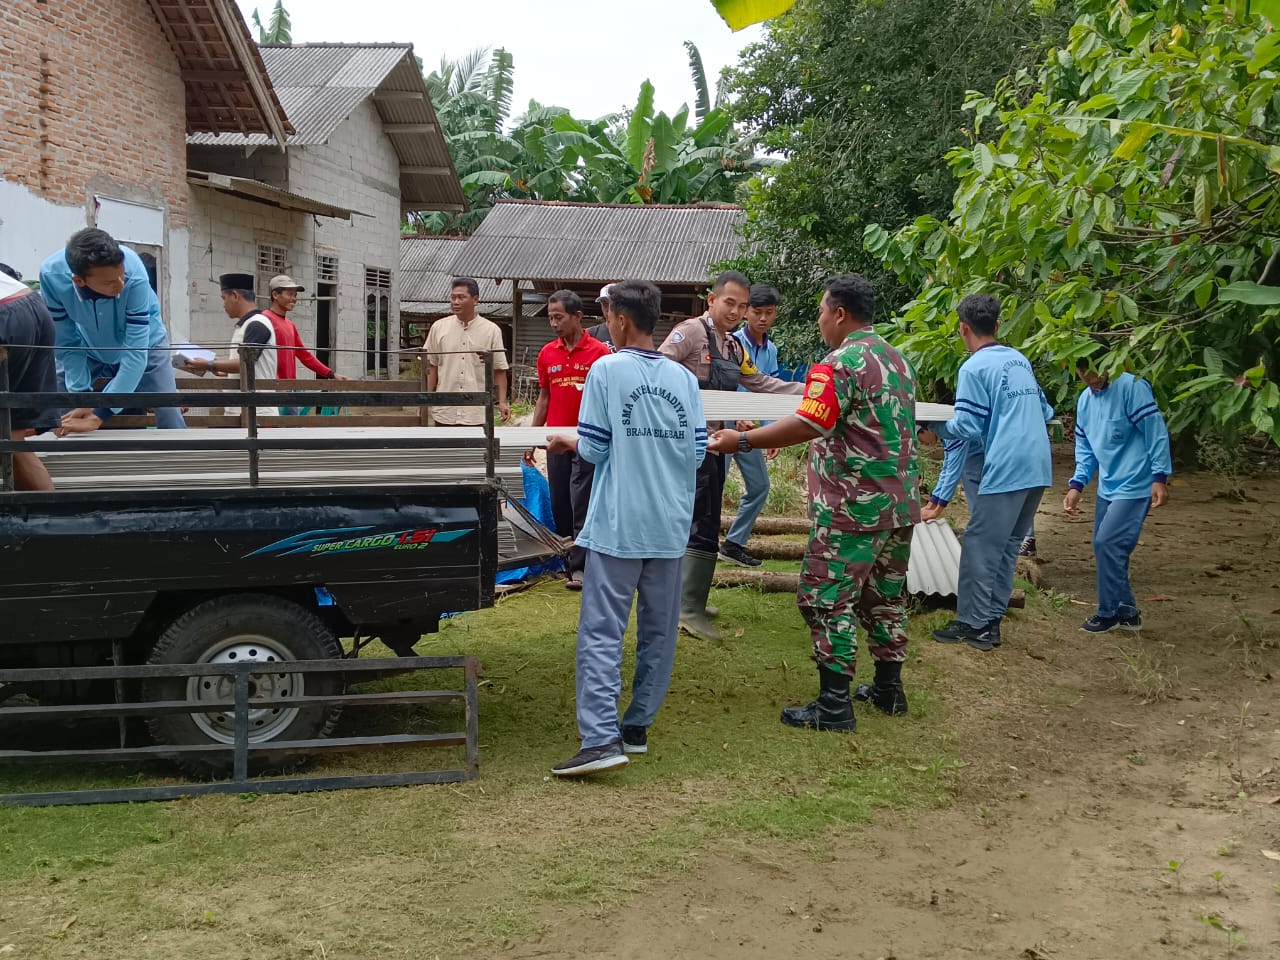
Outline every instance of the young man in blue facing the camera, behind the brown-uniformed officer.
<path fill-rule="evenodd" d="M 782 294 L 767 283 L 751 284 L 746 307 L 746 323 L 733 330 L 733 337 L 742 344 L 746 356 L 755 369 L 765 376 L 778 376 L 778 344 L 769 338 L 769 330 L 778 320 L 778 303 Z M 746 392 L 745 387 L 739 390 Z M 764 424 L 759 424 L 764 426 Z M 742 499 L 737 504 L 737 516 L 724 534 L 719 556 L 740 567 L 759 567 L 763 561 L 746 549 L 751 539 L 755 521 L 769 499 L 769 466 L 767 461 L 777 460 L 778 451 L 750 449 L 746 453 L 732 454 L 737 472 L 742 475 Z M 726 470 L 728 467 L 726 466 Z"/>

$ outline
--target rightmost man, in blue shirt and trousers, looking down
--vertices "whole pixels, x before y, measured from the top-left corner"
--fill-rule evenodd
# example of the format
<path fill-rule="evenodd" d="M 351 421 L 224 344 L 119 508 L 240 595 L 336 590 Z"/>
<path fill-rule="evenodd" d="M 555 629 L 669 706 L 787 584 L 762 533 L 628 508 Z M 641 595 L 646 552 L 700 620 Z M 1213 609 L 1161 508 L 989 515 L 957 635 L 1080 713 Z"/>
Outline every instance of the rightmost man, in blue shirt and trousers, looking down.
<path fill-rule="evenodd" d="M 1111 380 L 1080 358 L 1075 371 L 1088 389 L 1075 404 L 1075 474 L 1062 509 L 1080 512 L 1080 493 L 1098 475 L 1093 511 L 1093 557 L 1098 566 L 1098 612 L 1080 626 L 1089 634 L 1140 630 L 1129 585 L 1129 556 L 1152 507 L 1169 499 L 1169 429 L 1151 384 L 1133 374 Z"/>

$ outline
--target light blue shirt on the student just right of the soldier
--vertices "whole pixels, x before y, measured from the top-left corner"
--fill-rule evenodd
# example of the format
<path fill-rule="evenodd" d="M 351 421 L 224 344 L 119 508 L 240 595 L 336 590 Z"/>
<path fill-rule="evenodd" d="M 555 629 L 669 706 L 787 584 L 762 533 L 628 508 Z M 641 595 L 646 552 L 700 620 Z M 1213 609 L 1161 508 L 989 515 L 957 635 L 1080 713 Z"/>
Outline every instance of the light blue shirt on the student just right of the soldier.
<path fill-rule="evenodd" d="M 947 503 L 955 493 L 969 444 L 980 448 L 986 463 L 982 470 L 982 493 L 1010 493 L 1036 486 L 1053 485 L 1053 461 L 1044 424 L 1053 419 L 1053 408 L 1036 383 L 1032 365 L 1021 353 L 1004 343 L 979 347 L 960 367 L 956 385 L 955 419 L 934 425 L 934 433 L 947 443 L 946 458 L 956 458 L 943 475 L 950 490 L 941 483 L 931 497 Z M 961 448 L 951 442 L 965 440 Z"/>

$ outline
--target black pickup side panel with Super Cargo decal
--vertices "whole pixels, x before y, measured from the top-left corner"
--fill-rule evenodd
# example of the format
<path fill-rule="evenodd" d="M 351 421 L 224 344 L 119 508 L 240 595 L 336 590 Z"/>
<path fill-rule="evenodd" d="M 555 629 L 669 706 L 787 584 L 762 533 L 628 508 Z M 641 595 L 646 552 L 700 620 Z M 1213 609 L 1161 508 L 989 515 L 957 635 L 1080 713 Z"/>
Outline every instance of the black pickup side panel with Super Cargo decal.
<path fill-rule="evenodd" d="M 228 591 L 288 598 L 339 636 L 416 640 L 493 603 L 488 484 L 9 494 L 0 500 L 0 663 L 147 637 Z M 82 654 L 81 658 L 83 658 Z"/>

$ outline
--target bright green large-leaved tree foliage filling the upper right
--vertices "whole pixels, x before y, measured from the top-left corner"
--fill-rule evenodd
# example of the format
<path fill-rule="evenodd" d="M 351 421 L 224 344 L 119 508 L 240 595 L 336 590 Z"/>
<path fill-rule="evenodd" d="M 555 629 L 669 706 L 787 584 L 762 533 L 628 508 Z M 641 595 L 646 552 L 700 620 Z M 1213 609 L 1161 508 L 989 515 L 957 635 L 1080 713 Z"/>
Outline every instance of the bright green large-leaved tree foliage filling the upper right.
<path fill-rule="evenodd" d="M 1257 13 L 1280 4 L 1249 6 L 1084 0 L 1038 70 L 970 96 L 950 218 L 865 232 L 918 289 L 897 323 L 925 376 L 954 378 L 980 289 L 1060 403 L 1102 340 L 1174 433 L 1280 443 L 1280 44 Z"/>

